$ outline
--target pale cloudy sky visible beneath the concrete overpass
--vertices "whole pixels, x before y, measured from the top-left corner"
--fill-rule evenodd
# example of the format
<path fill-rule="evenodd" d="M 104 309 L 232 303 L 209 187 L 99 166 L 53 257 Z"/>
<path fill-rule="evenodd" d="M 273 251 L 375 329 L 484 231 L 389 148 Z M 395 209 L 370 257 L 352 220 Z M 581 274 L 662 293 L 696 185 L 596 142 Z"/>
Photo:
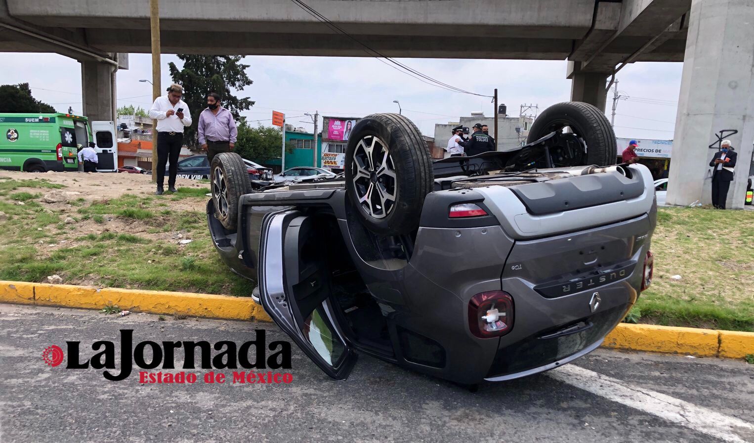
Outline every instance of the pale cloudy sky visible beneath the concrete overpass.
<path fill-rule="evenodd" d="M 28 82 L 38 100 L 65 112 L 72 106 L 81 112 L 81 67 L 75 60 L 57 54 L 4 54 L 5 69 L 0 85 Z M 162 82 L 170 84 L 167 63 L 180 60 L 162 56 Z M 441 82 L 492 95 L 498 88 L 499 103 L 509 115 L 518 115 L 523 103 L 538 104 L 542 110 L 569 100 L 571 81 L 566 79 L 565 61 L 537 60 L 438 60 L 400 61 Z M 269 125 L 272 109 L 285 112 L 287 122 L 311 130 L 304 112 L 320 115 L 363 116 L 372 112 L 396 112 L 399 100 L 403 113 L 422 133 L 434 134 L 436 123 L 458 120 L 459 115 L 483 111 L 492 115 L 491 100 L 456 94 L 419 82 L 373 58 L 347 57 L 244 57 L 247 74 L 254 84 L 239 92 L 256 105 L 244 112 L 248 120 Z M 9 66 L 12 66 L 8 69 Z M 149 54 L 130 54 L 130 69 L 118 72 L 118 106 L 147 108 L 152 86 L 140 78 L 152 79 Z M 615 133 L 618 137 L 672 139 L 682 63 L 634 63 L 618 73 L 621 95 Z M 612 97 L 612 93 L 610 94 Z M 608 116 L 611 101 L 608 101 Z M 321 125 L 321 120 L 320 120 Z M 321 128 L 321 126 L 320 126 Z"/>

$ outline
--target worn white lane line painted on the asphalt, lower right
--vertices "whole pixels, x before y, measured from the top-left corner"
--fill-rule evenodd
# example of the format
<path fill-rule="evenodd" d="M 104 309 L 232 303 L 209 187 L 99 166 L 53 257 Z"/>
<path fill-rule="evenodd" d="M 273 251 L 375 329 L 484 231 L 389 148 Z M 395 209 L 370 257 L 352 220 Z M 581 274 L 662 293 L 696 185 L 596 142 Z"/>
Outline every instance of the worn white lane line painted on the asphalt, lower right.
<path fill-rule="evenodd" d="M 741 437 L 754 438 L 754 424 L 728 417 L 711 409 L 679 400 L 670 395 L 599 374 L 575 365 L 566 365 L 547 373 L 562 383 L 584 389 L 610 401 L 655 415 L 694 431 L 730 443 L 750 443 Z"/>

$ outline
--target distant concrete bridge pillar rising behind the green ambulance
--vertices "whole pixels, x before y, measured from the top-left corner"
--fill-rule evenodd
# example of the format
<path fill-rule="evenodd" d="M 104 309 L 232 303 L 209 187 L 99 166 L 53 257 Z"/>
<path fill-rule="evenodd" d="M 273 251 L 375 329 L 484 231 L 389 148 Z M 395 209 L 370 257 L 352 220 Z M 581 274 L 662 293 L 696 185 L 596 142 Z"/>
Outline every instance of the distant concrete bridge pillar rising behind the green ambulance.
<path fill-rule="evenodd" d="M 117 66 L 81 60 L 82 114 L 90 120 L 115 122 L 115 71 Z"/>

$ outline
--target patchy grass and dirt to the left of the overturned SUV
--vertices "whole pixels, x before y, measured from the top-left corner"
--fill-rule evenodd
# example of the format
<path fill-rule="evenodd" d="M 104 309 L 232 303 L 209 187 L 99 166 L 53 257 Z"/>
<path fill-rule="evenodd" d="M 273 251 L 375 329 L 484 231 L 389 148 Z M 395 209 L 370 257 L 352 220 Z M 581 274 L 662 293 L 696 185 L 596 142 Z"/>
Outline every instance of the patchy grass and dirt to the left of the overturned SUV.
<path fill-rule="evenodd" d="M 66 191 L 44 180 L 0 180 L 6 214 L 0 279 L 44 281 L 57 274 L 71 285 L 251 294 L 253 284 L 219 259 L 205 215 L 196 210 L 207 201 L 208 186 L 160 196 L 70 195 L 48 205 L 41 198 L 51 189 Z"/>

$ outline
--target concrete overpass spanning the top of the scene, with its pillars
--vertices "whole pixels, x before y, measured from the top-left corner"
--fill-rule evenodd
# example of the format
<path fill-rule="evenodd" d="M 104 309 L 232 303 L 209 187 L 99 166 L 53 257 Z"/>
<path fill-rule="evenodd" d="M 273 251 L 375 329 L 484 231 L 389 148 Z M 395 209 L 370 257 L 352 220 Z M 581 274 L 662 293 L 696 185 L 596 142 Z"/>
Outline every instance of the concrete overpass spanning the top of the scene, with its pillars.
<path fill-rule="evenodd" d="M 688 66 L 688 73 L 686 66 L 684 69 L 684 85 L 688 83 L 688 88 L 682 91 L 676 132 L 680 134 L 684 128 L 691 131 L 691 126 L 683 122 L 686 115 L 694 113 L 691 108 L 700 106 L 692 97 L 694 93 L 700 88 L 722 93 L 725 78 L 733 75 L 735 78 L 728 82 L 740 86 L 734 94 L 734 107 L 738 109 L 734 115 L 741 128 L 740 140 L 746 143 L 740 143 L 735 138 L 738 135 L 733 140 L 735 146 L 740 146 L 739 153 L 745 154 L 743 149 L 749 149 L 742 156 L 750 157 L 749 142 L 754 140 L 754 129 L 750 128 L 754 103 L 747 102 L 747 97 L 754 97 L 751 0 L 693 0 L 693 5 L 692 0 L 304 2 L 358 41 L 389 57 L 569 60 L 566 75 L 573 80 L 572 100 L 593 103 L 602 109 L 605 83 L 617 67 L 636 61 L 686 60 L 689 65 L 689 51 L 696 51 L 694 66 Z M 373 55 L 290 0 L 161 0 L 160 11 L 165 53 Z M 703 20 L 728 31 L 700 24 Z M 689 32 L 693 32 L 691 38 L 687 38 Z M 115 95 L 114 55 L 150 51 L 149 1 L 0 0 L 0 51 L 48 51 L 81 60 L 84 113 L 110 119 Z M 707 54 L 710 57 L 704 57 Z M 715 62 L 706 63 L 710 60 Z M 740 70 L 724 71 L 718 62 L 734 63 Z M 697 69 L 702 64 L 704 69 Z M 690 100 L 685 100 L 683 94 Z M 705 99 L 709 107 L 700 114 L 716 109 L 714 97 Z M 710 142 L 700 143 L 704 149 L 715 131 L 728 129 L 718 128 L 719 125 L 722 122 L 714 118 L 706 123 L 694 122 L 694 128 L 708 133 L 703 140 L 710 138 Z M 701 150 L 697 154 L 706 157 L 708 152 Z M 676 157 L 680 156 L 674 155 L 674 166 L 679 163 Z M 699 168 L 696 171 L 702 174 Z M 736 192 L 743 192 L 739 184 Z M 698 198 L 701 195 L 679 197 L 676 201 L 673 185 L 668 196 L 669 202 L 677 203 Z"/>

